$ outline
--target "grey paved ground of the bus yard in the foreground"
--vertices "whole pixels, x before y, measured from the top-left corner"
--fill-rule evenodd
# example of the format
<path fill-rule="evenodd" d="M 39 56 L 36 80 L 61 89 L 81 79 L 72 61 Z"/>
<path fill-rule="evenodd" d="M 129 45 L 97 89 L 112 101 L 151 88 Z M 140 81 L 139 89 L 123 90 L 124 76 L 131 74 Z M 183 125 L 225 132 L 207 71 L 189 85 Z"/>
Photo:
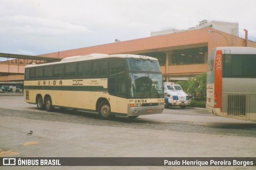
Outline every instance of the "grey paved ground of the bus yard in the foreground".
<path fill-rule="evenodd" d="M 28 134 L 33 131 L 32 135 Z M 136 119 L 40 111 L 0 94 L 0 157 L 256 157 L 256 122 L 206 110 L 165 109 Z M 0 169 L 255 169 L 255 166 L 20 166 Z"/>

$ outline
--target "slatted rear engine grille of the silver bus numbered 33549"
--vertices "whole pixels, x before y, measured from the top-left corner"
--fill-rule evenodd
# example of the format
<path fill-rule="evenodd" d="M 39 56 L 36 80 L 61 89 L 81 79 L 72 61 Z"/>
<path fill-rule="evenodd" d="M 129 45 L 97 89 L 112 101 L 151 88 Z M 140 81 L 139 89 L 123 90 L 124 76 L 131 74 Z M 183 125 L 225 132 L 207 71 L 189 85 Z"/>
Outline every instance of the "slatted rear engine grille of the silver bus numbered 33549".
<path fill-rule="evenodd" d="M 228 95 L 228 115 L 246 115 L 246 95 Z"/>

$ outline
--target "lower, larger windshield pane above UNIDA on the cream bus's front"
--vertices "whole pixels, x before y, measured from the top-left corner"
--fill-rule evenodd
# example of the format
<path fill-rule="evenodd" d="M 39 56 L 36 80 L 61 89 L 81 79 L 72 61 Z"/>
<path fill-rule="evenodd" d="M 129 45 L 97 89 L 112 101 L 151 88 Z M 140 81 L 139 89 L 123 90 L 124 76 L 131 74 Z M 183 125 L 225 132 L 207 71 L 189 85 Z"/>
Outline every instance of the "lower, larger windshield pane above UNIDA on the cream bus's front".
<path fill-rule="evenodd" d="M 163 85 L 161 74 L 130 73 L 131 88 L 129 97 L 162 97 Z"/>

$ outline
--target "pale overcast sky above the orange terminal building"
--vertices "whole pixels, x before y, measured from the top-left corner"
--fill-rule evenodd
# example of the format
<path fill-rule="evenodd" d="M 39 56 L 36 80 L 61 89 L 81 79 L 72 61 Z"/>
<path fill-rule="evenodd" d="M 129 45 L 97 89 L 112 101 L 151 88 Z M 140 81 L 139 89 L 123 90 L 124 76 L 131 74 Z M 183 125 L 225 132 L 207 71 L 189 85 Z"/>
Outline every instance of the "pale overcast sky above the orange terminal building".
<path fill-rule="evenodd" d="M 0 53 L 40 55 L 237 21 L 256 37 L 256 0 L 0 0 Z"/>

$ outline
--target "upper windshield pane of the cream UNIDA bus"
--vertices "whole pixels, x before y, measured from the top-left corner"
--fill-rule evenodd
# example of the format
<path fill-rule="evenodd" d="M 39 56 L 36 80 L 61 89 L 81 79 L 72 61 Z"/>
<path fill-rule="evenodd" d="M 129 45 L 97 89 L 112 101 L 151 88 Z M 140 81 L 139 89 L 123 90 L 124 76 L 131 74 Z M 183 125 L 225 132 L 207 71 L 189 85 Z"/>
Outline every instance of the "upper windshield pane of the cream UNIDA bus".
<path fill-rule="evenodd" d="M 126 59 L 126 61 L 128 63 L 128 70 L 161 72 L 158 61 L 134 58 Z"/>

